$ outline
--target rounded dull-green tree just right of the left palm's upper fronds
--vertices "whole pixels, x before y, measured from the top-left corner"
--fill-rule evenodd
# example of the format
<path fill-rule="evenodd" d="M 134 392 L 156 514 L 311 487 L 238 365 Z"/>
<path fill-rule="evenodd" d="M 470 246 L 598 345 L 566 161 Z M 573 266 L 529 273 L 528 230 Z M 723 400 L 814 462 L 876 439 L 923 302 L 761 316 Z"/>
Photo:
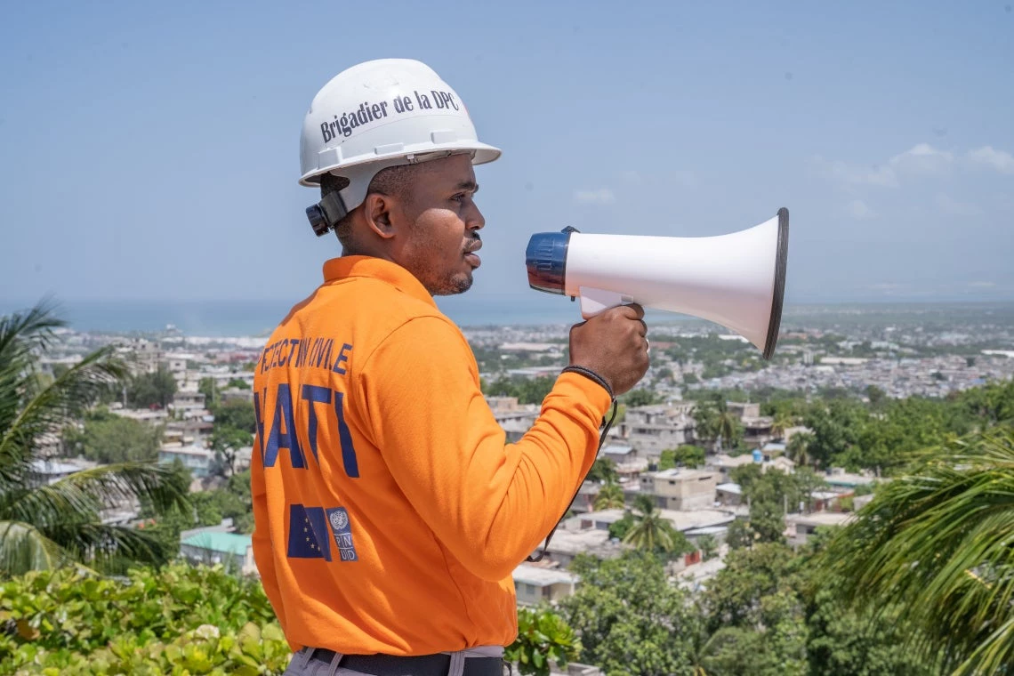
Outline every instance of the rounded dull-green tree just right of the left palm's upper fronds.
<path fill-rule="evenodd" d="M 64 441 L 74 453 L 108 464 L 155 460 L 162 428 L 111 414 L 104 408 L 88 411 L 83 429 L 68 428 Z"/>

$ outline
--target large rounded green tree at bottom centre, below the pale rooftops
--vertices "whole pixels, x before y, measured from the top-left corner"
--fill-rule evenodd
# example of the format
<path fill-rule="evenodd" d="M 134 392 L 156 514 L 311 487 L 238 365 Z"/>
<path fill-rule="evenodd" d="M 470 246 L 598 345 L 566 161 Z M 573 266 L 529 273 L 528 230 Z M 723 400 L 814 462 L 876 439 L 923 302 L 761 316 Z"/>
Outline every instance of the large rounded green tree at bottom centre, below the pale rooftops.
<path fill-rule="evenodd" d="M 699 618 L 661 561 L 638 551 L 612 560 L 578 556 L 582 580 L 560 611 L 581 637 L 581 659 L 608 674 L 691 674 Z"/>

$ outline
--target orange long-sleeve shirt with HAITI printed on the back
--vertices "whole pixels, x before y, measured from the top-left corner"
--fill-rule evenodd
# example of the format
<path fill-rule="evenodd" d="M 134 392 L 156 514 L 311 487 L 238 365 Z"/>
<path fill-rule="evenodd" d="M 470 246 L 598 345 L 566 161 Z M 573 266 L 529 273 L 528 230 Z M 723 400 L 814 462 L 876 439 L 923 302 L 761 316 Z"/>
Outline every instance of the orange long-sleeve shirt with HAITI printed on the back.
<path fill-rule="evenodd" d="M 595 459 L 605 390 L 561 375 L 516 444 L 460 330 L 405 269 L 347 256 L 254 379 L 254 554 L 293 650 L 506 646 L 511 572 Z"/>

